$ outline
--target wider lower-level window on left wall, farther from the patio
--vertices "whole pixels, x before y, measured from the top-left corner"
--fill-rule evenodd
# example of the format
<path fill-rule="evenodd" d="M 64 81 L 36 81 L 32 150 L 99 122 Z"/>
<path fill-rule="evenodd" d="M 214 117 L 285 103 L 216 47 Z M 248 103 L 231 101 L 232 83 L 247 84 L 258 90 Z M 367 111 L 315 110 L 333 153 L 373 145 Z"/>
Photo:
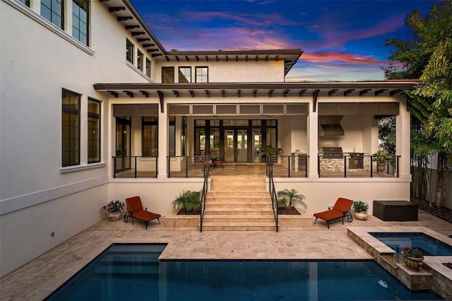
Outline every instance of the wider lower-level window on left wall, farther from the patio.
<path fill-rule="evenodd" d="M 62 166 L 80 164 L 80 94 L 63 90 L 61 114 Z"/>

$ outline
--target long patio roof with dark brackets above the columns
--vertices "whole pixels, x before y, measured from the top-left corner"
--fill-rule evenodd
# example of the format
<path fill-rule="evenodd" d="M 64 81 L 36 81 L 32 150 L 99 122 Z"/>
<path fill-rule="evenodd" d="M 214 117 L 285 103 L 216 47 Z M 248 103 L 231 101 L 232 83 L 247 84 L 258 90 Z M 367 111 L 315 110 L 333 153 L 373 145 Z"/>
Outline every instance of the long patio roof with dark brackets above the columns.
<path fill-rule="evenodd" d="M 119 95 L 149 96 L 175 95 L 176 97 L 242 97 L 242 96 L 296 96 L 312 95 L 397 95 L 420 83 L 406 81 L 351 81 L 351 82 L 302 82 L 302 83 L 95 83 L 95 90 Z M 386 93 L 386 94 L 385 94 Z"/>

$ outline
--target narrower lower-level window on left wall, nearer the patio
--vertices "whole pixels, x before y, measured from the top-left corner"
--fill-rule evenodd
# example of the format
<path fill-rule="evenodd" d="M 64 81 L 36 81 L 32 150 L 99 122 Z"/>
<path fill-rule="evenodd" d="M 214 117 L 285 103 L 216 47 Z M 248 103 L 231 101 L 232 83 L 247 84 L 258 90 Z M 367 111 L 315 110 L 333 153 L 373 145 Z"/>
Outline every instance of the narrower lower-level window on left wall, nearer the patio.
<path fill-rule="evenodd" d="M 100 162 L 100 101 L 88 99 L 88 163 Z"/>

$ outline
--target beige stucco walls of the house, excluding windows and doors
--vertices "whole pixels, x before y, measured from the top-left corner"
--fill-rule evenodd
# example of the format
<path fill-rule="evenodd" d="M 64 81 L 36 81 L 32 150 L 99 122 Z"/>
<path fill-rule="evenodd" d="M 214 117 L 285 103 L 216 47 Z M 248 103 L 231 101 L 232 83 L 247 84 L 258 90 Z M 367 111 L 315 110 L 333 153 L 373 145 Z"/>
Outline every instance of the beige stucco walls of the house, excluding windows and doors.
<path fill-rule="evenodd" d="M 126 13 L 136 16 L 130 5 L 129 1 L 90 1 L 90 42 L 86 46 L 71 37 L 71 26 L 61 30 L 42 18 L 39 0 L 31 0 L 30 8 L 17 0 L 0 1 L 0 276 L 105 218 L 105 213 L 99 209 L 109 200 L 140 195 L 146 206 L 165 216 L 174 213 L 171 202 L 181 191 L 201 189 L 202 178 L 168 177 L 168 119 L 172 105 L 260 105 L 261 108 L 306 105 L 306 112 L 297 113 L 286 109 L 275 114 L 241 114 L 239 110 L 237 114 L 190 112 L 186 114 L 187 148 L 188 154 L 194 152 L 195 119 L 277 120 L 278 147 L 283 148 L 283 155 L 298 150 L 309 154 L 309 163 L 307 177 L 276 178 L 276 188 L 300 191 L 306 196 L 310 213 L 324 210 L 338 196 L 364 199 L 370 205 L 374 199 L 410 198 L 410 113 L 403 97 L 398 93 L 391 95 L 391 91 L 407 88 L 412 83 L 290 83 L 286 86 L 285 73 L 302 54 L 299 49 L 233 54 L 206 52 L 208 59 L 203 58 L 203 52 L 197 52 L 186 54 L 189 57 L 186 59 L 183 52 L 167 52 L 158 41 L 150 41 L 155 42 L 158 51 L 148 52 L 144 45 L 150 42 L 138 42 L 141 36 L 124 29 L 119 15 L 109 12 L 109 6 L 124 6 Z M 65 23 L 71 24 L 71 5 L 65 7 Z M 155 38 L 146 28 L 145 32 L 151 39 Z M 136 67 L 136 56 L 133 61 L 126 61 L 126 39 L 133 42 L 135 51 L 140 50 L 150 60 L 150 77 Z M 160 55 L 153 56 L 156 53 Z M 196 55 L 200 61 L 195 59 Z M 266 55 L 270 59 L 266 59 Z M 277 59 L 277 55 L 283 59 Z M 162 84 L 161 69 L 165 66 L 174 66 L 175 70 L 179 66 L 190 66 L 192 72 L 196 66 L 206 66 L 208 83 L 186 84 L 181 88 L 177 86 L 176 76 L 174 84 L 168 84 L 165 90 L 165 85 L 158 85 Z M 128 83 L 136 87 L 131 88 Z M 215 83 L 219 85 L 213 85 Z M 263 83 L 266 85 L 261 85 Z M 335 85 L 338 91 L 329 95 Z M 109 88 L 105 88 L 107 86 Z M 179 96 L 174 93 L 175 88 L 179 89 Z M 365 88 L 373 90 L 359 95 Z M 62 89 L 81 95 L 81 160 L 79 165 L 71 167 L 61 166 Z M 206 94 L 207 89 L 210 95 Z M 353 89 L 352 94 L 345 95 L 350 89 Z M 375 95 L 380 89 L 386 90 Z M 107 90 L 118 93 L 118 97 Z M 124 90 L 131 92 L 133 98 Z M 141 90 L 147 91 L 148 96 Z M 162 91 L 163 98 L 157 90 Z M 190 95 L 190 90 L 194 90 L 194 96 Z M 319 90 L 318 97 L 314 97 L 316 90 Z M 88 164 L 86 141 L 88 98 L 100 101 L 102 108 L 101 160 L 92 164 Z M 374 113 L 344 114 L 341 123 L 344 136 L 319 138 L 319 108 L 322 104 L 365 102 L 395 103 L 398 107 L 399 177 L 319 177 L 317 163 L 321 147 L 341 146 L 345 153 L 367 154 L 378 148 Z M 143 104 L 158 107 L 155 113 L 159 133 L 158 175 L 142 179 L 114 178 L 114 106 Z M 174 116 L 177 120 L 181 118 Z M 176 128 L 176 155 L 180 155 L 180 122 L 176 124 L 179 126 Z M 131 155 L 139 156 L 142 143 L 139 118 L 132 117 L 131 128 Z"/>

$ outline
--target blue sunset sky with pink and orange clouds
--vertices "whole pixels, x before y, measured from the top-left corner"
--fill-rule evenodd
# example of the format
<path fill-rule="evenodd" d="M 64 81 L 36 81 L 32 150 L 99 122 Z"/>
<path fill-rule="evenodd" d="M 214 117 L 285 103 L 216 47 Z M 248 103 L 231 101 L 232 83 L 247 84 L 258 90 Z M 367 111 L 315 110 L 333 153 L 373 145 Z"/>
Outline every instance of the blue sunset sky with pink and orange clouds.
<path fill-rule="evenodd" d="M 383 79 L 388 38 L 408 38 L 405 17 L 436 1 L 131 0 L 165 49 L 304 51 L 286 81 Z"/>

